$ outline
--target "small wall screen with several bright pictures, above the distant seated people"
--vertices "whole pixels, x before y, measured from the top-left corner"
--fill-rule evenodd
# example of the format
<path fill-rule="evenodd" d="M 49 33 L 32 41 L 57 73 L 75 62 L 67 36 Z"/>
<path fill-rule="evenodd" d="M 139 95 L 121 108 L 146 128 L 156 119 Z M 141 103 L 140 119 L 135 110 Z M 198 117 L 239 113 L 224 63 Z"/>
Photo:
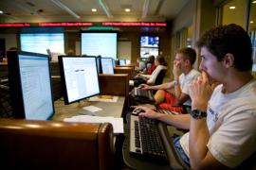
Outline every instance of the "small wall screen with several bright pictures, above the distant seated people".
<path fill-rule="evenodd" d="M 140 58 L 148 58 L 151 55 L 158 56 L 159 37 L 141 36 L 140 37 Z"/>

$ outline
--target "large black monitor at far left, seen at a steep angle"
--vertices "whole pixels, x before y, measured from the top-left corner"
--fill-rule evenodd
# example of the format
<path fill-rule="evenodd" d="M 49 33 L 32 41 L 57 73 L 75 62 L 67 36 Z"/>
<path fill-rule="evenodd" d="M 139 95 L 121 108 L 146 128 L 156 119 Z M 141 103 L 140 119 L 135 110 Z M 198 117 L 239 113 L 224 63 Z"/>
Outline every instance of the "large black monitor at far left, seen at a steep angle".
<path fill-rule="evenodd" d="M 49 119 L 54 114 L 49 57 L 9 51 L 8 67 L 13 117 Z"/>

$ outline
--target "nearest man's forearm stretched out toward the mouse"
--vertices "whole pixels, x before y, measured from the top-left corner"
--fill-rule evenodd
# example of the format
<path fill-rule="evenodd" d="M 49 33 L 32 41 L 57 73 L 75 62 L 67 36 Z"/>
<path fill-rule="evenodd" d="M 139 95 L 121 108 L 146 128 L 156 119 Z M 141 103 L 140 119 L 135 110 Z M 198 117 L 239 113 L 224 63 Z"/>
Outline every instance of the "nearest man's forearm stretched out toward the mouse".
<path fill-rule="evenodd" d="M 190 114 L 172 115 L 159 113 L 156 119 L 177 128 L 190 129 Z"/>

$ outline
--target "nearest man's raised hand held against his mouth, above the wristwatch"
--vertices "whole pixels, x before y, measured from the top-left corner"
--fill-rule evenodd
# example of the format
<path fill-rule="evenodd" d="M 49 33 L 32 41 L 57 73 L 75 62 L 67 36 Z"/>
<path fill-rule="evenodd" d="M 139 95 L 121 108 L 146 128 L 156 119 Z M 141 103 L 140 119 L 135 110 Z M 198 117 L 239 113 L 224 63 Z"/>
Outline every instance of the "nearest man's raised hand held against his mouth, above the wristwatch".
<path fill-rule="evenodd" d="M 209 78 L 202 72 L 202 76 L 198 76 L 191 85 L 192 110 L 206 111 L 211 93 Z"/>

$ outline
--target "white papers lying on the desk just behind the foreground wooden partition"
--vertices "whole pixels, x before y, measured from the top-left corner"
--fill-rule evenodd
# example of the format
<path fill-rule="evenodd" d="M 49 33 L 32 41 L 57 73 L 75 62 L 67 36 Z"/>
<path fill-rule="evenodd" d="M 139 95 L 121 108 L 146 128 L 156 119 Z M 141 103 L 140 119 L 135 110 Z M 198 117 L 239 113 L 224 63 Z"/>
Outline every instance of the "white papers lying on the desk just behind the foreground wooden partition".
<path fill-rule="evenodd" d="M 114 128 L 114 134 L 123 133 L 122 118 L 115 117 L 101 117 L 91 115 L 78 115 L 70 118 L 65 118 L 64 122 L 82 122 L 82 123 L 110 123 Z"/>

